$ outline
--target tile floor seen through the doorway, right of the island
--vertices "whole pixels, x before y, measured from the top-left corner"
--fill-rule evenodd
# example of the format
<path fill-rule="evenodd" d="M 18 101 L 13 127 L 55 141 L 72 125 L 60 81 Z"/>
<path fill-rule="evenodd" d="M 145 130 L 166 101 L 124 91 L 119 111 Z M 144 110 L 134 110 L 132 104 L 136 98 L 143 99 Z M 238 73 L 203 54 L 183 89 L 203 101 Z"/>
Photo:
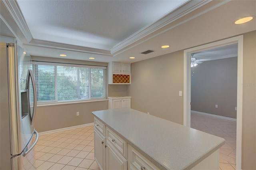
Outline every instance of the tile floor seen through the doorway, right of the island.
<path fill-rule="evenodd" d="M 236 121 L 191 112 L 191 127 L 226 139 L 220 148 L 219 169 L 236 169 Z"/>

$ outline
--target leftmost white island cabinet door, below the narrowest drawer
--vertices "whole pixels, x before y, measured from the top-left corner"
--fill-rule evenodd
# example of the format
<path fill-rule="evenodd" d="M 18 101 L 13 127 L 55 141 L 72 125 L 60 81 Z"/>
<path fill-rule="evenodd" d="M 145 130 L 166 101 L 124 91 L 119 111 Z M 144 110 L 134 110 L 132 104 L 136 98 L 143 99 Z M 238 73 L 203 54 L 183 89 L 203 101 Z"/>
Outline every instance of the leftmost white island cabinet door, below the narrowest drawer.
<path fill-rule="evenodd" d="M 105 137 L 94 128 L 94 158 L 101 170 L 104 168 Z"/>

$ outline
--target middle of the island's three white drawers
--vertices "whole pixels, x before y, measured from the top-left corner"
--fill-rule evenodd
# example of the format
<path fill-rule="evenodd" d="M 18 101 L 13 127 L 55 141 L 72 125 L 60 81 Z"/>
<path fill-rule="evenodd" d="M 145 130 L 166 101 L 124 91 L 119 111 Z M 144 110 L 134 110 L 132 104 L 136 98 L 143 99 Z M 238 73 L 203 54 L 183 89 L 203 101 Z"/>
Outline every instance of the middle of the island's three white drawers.
<path fill-rule="evenodd" d="M 125 158 L 127 158 L 127 143 L 120 138 L 117 134 L 115 134 L 112 130 L 107 128 L 106 130 L 106 138 L 107 138 L 107 143 L 111 144 L 118 150 Z"/>

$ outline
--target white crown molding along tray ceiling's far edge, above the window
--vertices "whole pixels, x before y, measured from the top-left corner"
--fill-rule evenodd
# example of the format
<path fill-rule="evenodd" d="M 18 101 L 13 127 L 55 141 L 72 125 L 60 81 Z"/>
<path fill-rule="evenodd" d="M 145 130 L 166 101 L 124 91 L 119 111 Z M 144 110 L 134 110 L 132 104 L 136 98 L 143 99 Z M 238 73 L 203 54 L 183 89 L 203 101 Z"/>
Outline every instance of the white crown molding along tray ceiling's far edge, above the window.
<path fill-rule="evenodd" d="M 51 48 L 51 49 L 61 49 L 61 50 L 74 51 L 74 52 L 84 52 L 84 53 L 98 54 L 98 55 L 106 55 L 111 57 L 113 56 L 110 53 L 110 51 L 104 50 L 104 49 L 90 48 L 90 47 L 70 45 L 65 43 L 56 43 L 56 42 L 36 40 L 36 39 L 32 39 L 29 43 L 24 45 L 33 46 L 33 47 L 45 47 L 45 48 Z"/>

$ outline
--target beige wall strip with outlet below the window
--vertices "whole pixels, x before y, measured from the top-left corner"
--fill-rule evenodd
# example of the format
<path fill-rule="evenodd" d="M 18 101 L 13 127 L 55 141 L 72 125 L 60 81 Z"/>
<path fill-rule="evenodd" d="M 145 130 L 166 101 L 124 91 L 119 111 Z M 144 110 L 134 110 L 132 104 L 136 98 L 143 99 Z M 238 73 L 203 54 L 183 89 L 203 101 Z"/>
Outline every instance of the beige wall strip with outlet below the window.
<path fill-rule="evenodd" d="M 93 123 L 92 111 L 108 109 L 108 101 L 37 107 L 35 129 L 38 132 Z M 79 112 L 79 116 L 76 116 Z"/>

